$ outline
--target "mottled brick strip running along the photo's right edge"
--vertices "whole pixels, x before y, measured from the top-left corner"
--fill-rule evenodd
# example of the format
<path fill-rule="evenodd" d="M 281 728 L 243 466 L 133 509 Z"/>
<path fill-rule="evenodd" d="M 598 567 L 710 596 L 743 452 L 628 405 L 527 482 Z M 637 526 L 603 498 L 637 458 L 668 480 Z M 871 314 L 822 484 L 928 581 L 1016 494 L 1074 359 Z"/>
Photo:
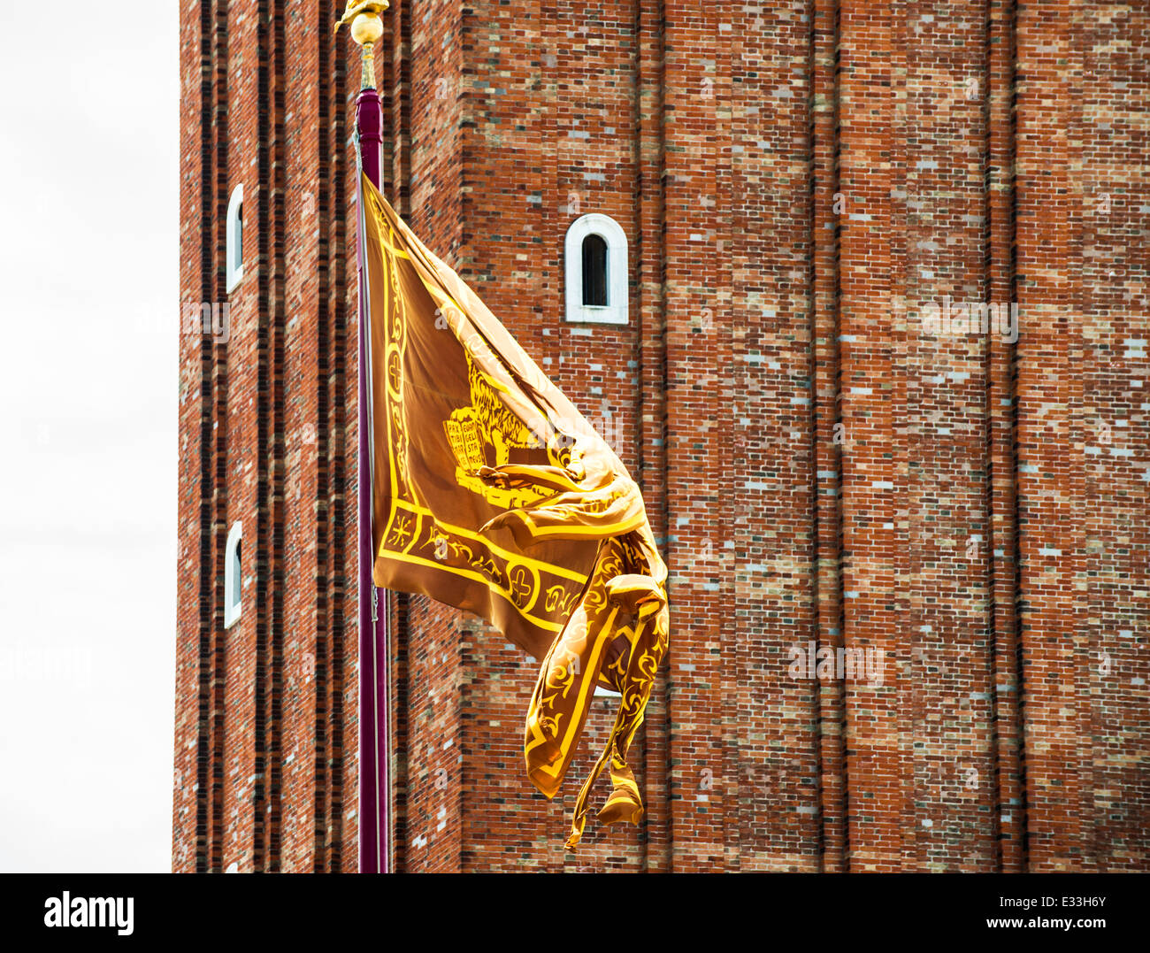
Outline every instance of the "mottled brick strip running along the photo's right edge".
<path fill-rule="evenodd" d="M 1150 10 L 1090 2 L 1076 10 L 1081 56 L 1076 139 L 1082 257 L 1084 587 L 1082 691 L 1091 790 L 1081 869 L 1145 870 L 1150 844 Z M 1109 442 L 1107 442 L 1109 441 Z"/>

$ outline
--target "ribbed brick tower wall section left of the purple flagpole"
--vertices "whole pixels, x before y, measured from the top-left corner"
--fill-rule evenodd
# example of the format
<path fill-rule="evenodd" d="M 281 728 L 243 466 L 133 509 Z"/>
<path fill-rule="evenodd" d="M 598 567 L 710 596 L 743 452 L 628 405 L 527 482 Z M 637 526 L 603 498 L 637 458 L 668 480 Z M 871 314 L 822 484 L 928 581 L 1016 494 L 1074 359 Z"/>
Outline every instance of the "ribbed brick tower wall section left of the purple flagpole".
<path fill-rule="evenodd" d="M 177 870 L 358 863 L 352 84 L 322 6 L 182 8 L 182 305 L 227 302 L 230 328 L 181 334 Z M 236 520 L 243 613 L 224 630 Z"/>

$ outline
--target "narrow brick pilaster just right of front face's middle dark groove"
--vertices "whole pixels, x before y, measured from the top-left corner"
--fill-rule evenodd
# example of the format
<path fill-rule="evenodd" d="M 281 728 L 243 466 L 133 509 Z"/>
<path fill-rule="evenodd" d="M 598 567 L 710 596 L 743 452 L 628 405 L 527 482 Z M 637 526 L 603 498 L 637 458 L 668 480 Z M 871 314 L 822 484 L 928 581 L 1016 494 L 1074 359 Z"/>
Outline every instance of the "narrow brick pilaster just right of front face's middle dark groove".
<path fill-rule="evenodd" d="M 839 405 L 849 449 L 842 456 L 843 599 L 848 649 L 887 648 L 896 631 L 897 452 L 892 403 L 898 387 L 891 320 L 891 51 L 889 7 L 839 5 L 839 191 L 846 200 L 839 265 Z M 851 869 L 900 863 L 902 765 L 897 707 L 889 689 L 844 685 L 846 802 Z"/>

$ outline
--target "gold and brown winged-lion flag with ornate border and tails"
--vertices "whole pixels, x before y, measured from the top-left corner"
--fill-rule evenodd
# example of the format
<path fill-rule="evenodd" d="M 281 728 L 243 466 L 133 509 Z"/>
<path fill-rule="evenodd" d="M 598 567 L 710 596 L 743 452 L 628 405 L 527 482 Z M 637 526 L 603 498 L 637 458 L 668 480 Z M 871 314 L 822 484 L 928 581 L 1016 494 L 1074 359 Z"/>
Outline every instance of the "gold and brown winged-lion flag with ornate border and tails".
<path fill-rule="evenodd" d="M 547 798 L 596 685 L 621 694 L 574 849 L 605 767 L 599 818 L 643 816 L 627 752 L 667 651 L 667 567 L 611 448 L 367 176 L 360 198 L 375 582 L 470 610 L 543 660 L 523 753 Z"/>

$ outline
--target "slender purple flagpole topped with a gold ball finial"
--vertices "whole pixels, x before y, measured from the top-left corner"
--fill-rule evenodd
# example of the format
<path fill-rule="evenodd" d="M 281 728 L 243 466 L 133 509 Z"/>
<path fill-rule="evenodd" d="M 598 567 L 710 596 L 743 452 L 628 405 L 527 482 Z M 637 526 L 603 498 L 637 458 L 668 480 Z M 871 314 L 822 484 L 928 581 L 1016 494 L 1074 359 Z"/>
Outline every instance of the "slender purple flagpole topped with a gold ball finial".
<path fill-rule="evenodd" d="M 382 188 L 381 148 L 383 107 L 375 83 L 375 46 L 383 38 L 381 2 L 347 5 L 352 39 L 362 49 L 360 93 L 355 99 L 355 132 L 360 168 L 373 184 Z M 356 189 L 359 185 L 356 184 Z M 360 197 L 356 218 L 363 214 Z M 359 257 L 359 632 L 360 632 L 360 872 L 386 874 L 391 869 L 390 758 L 389 758 L 389 646 L 390 600 L 377 592 L 371 578 L 375 552 L 371 539 L 371 415 L 368 376 L 368 287 L 362 234 Z"/>

